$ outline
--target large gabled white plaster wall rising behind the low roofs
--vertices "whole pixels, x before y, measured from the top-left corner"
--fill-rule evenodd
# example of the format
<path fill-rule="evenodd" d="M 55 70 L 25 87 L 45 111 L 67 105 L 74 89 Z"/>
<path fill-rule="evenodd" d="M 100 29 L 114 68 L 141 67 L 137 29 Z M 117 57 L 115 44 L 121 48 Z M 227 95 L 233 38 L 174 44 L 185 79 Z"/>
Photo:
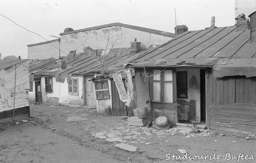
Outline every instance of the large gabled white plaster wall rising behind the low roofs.
<path fill-rule="evenodd" d="M 172 39 L 172 37 L 151 34 L 140 30 L 134 30 L 125 27 L 113 26 L 98 30 L 66 34 L 60 36 L 60 48 L 65 53 L 76 50 L 76 54 L 83 53 L 83 48 L 90 46 L 92 49 L 105 49 L 108 35 L 113 36 L 113 40 L 118 39 L 114 48 L 129 48 L 130 42 L 137 38 L 141 42 L 141 48 L 148 48 L 151 44 L 161 45 Z M 111 46 L 109 47 L 111 48 Z M 65 56 L 61 52 L 61 56 Z"/>

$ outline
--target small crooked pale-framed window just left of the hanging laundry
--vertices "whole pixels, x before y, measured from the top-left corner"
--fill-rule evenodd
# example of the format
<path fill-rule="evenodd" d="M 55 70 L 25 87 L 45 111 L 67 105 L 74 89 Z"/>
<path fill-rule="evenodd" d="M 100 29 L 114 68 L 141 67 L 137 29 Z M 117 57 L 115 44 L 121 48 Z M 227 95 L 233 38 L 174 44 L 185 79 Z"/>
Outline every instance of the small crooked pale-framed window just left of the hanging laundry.
<path fill-rule="evenodd" d="M 95 92 L 97 100 L 110 99 L 108 81 L 95 81 Z"/>

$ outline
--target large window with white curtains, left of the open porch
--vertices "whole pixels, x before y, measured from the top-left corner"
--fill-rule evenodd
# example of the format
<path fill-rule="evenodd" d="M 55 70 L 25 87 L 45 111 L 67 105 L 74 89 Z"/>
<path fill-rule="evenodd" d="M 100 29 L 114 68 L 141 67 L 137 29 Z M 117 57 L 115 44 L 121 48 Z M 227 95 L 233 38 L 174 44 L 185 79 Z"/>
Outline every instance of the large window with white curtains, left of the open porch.
<path fill-rule="evenodd" d="M 152 74 L 152 102 L 172 103 L 172 70 L 153 70 Z"/>

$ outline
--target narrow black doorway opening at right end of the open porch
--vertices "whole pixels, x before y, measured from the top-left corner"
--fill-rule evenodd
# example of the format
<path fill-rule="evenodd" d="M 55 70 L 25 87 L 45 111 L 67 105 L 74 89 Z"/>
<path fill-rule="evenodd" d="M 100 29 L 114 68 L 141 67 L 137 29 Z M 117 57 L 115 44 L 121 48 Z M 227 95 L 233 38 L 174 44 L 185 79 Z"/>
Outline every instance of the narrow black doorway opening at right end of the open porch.
<path fill-rule="evenodd" d="M 200 69 L 200 121 L 206 120 L 205 69 Z"/>

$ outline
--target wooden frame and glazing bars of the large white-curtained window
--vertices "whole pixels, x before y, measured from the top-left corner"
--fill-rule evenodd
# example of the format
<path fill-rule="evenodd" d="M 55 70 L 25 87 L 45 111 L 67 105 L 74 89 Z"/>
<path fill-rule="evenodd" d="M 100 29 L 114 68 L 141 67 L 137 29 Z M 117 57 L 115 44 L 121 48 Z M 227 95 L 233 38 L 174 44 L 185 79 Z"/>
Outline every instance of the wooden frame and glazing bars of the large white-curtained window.
<path fill-rule="evenodd" d="M 174 96 L 174 91 L 175 91 L 175 89 L 174 89 L 174 73 L 175 73 L 175 70 L 174 69 L 152 69 L 151 71 L 150 71 L 150 73 L 151 73 L 151 75 L 153 75 L 153 70 L 160 70 L 160 81 L 159 80 L 153 80 L 153 77 L 151 77 L 151 80 L 150 80 L 150 82 L 151 82 L 151 86 L 150 86 L 150 94 L 151 94 L 151 102 L 153 102 L 153 103 L 162 103 L 162 104 L 174 104 L 174 98 L 175 98 L 175 96 Z M 171 70 L 171 77 L 172 77 L 172 80 L 171 81 L 164 81 L 163 80 L 163 78 L 164 78 L 164 76 L 163 76 L 163 72 L 165 71 L 165 70 Z M 153 93 L 153 82 L 160 82 L 160 101 L 155 101 L 155 100 L 153 100 L 153 96 L 152 96 L 152 93 Z M 172 85 L 172 101 L 171 102 L 165 102 L 164 101 L 164 94 L 163 94 L 163 88 L 164 88 L 164 82 L 170 82 L 171 83 L 171 85 Z"/>

